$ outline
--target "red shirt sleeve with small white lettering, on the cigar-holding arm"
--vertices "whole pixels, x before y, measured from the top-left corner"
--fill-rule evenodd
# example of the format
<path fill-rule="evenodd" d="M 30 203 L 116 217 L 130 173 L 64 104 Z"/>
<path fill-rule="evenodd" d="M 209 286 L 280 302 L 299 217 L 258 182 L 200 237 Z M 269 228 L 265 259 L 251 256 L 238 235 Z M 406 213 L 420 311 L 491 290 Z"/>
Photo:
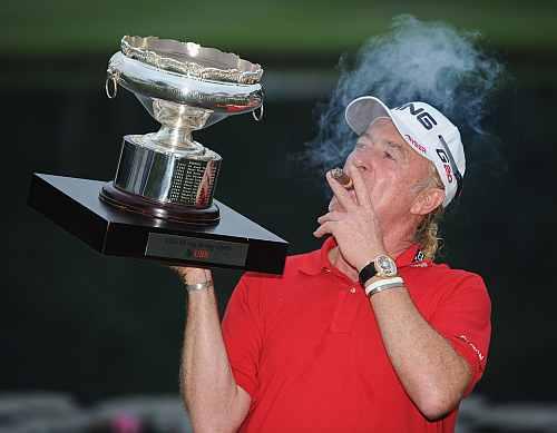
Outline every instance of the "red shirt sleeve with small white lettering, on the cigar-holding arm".
<path fill-rule="evenodd" d="M 430 324 L 449 341 L 472 372 L 470 394 L 486 368 L 491 337 L 491 302 L 483 279 L 468 274 L 440 303 Z"/>

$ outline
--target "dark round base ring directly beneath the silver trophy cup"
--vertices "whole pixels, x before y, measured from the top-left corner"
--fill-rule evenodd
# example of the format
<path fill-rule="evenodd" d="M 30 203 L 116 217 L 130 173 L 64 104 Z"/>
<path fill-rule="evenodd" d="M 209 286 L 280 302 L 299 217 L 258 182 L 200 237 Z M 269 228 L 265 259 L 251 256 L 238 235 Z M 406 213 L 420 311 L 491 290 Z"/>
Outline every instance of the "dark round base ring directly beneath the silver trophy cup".
<path fill-rule="evenodd" d="M 177 223 L 209 226 L 218 224 L 221 218 L 218 207 L 215 204 L 212 204 L 206 209 L 197 209 L 194 207 L 156 203 L 147 200 L 141 196 L 126 193 L 115 187 L 114 181 L 109 181 L 102 186 L 99 198 L 123 210 Z"/>

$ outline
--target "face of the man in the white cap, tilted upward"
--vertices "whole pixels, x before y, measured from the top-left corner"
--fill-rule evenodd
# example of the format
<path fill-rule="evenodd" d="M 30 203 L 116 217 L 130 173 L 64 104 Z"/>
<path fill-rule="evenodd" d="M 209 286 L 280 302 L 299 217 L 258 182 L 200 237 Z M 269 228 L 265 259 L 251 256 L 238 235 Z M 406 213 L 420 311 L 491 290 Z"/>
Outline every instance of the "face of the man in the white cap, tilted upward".
<path fill-rule="evenodd" d="M 410 217 L 419 190 L 430 176 L 430 163 L 410 148 L 389 118 L 379 118 L 358 138 L 344 169 L 355 166 L 365 181 L 379 222 L 383 227 Z M 350 191 L 355 199 L 355 193 Z M 330 210 L 342 210 L 333 196 Z"/>

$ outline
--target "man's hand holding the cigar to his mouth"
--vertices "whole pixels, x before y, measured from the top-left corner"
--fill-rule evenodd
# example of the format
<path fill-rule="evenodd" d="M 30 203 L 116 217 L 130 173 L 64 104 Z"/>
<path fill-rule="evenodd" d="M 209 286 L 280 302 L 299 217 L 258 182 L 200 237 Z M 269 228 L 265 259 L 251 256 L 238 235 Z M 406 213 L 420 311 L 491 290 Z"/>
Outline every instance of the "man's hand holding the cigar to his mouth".
<path fill-rule="evenodd" d="M 328 173 L 326 180 L 345 211 L 333 210 L 319 217 L 320 227 L 313 235 L 333 235 L 344 259 L 360 270 L 380 254 L 385 254 L 385 248 L 383 234 L 360 171 L 350 165 L 348 173 L 354 185 L 355 200 Z"/>

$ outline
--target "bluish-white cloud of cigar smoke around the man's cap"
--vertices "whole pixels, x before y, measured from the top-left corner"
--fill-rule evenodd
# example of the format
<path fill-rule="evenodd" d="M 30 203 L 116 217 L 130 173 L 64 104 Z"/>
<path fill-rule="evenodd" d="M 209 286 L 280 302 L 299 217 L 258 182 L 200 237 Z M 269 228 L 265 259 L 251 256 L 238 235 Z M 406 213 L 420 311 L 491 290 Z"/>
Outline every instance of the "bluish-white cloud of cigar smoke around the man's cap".
<path fill-rule="evenodd" d="M 354 68 L 341 58 L 338 86 L 322 107 L 317 136 L 306 144 L 302 160 L 321 173 L 342 166 L 355 142 L 344 108 L 363 95 L 390 107 L 412 100 L 431 104 L 459 127 L 465 146 L 485 135 L 482 119 L 502 67 L 477 47 L 478 38 L 478 32 L 441 22 L 394 18 L 387 35 L 371 38 L 358 52 Z"/>

